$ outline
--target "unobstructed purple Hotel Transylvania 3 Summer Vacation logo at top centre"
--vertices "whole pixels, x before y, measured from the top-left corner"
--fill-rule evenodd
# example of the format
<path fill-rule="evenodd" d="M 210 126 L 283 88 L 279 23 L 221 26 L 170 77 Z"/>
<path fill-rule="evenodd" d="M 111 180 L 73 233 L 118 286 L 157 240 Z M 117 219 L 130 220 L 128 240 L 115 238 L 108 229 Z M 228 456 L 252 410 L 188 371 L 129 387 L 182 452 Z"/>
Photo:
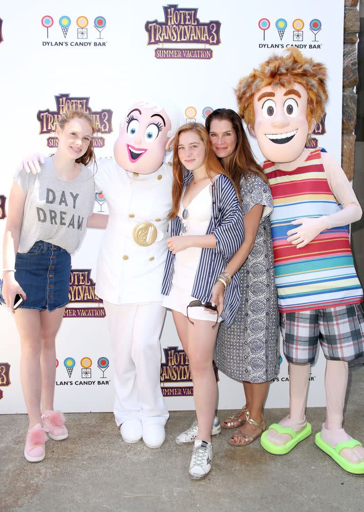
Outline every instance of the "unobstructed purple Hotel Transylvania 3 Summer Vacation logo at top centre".
<path fill-rule="evenodd" d="M 148 34 L 147 45 L 203 45 L 204 48 L 157 48 L 157 59 L 211 59 L 208 46 L 220 45 L 221 23 L 217 20 L 201 23 L 198 8 L 179 8 L 176 5 L 163 7 L 164 22 L 157 19 L 145 23 Z"/>

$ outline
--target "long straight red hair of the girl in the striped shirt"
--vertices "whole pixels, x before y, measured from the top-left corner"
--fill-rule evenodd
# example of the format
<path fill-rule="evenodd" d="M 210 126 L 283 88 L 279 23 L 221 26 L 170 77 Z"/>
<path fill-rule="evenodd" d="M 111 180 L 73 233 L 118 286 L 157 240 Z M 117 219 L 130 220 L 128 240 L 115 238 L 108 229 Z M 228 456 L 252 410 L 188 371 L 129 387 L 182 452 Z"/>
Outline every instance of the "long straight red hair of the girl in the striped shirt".
<path fill-rule="evenodd" d="M 212 181 L 213 176 L 212 173 L 223 174 L 227 178 L 231 179 L 230 176 L 227 175 L 224 167 L 221 165 L 218 157 L 215 155 L 213 151 L 213 147 L 210 141 L 210 137 L 207 133 L 205 126 L 201 123 L 186 123 L 183 124 L 178 130 L 174 138 L 173 143 L 173 185 L 172 185 L 172 210 L 170 210 L 168 219 L 173 219 L 178 215 L 178 210 L 180 208 L 180 201 L 182 197 L 183 190 L 183 178 L 185 176 L 185 168 L 183 167 L 181 160 L 178 156 L 178 145 L 179 145 L 179 136 L 184 132 L 196 132 L 197 136 L 203 142 L 205 146 L 206 156 L 205 156 L 205 169 L 206 174 Z M 231 180 L 232 181 L 232 180 Z M 238 189 L 235 186 L 235 191 L 239 198 Z"/>

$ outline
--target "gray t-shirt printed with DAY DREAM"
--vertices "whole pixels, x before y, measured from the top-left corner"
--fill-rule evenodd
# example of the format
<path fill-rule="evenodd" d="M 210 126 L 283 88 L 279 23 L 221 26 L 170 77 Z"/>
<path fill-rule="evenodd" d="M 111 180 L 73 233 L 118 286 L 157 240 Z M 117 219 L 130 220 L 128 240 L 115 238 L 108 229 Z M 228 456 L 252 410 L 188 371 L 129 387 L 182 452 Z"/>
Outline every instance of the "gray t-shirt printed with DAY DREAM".
<path fill-rule="evenodd" d="M 27 195 L 18 252 L 28 252 L 38 240 L 75 252 L 94 208 L 95 182 L 90 169 L 81 165 L 76 179 L 61 180 L 49 157 L 39 174 L 18 170 L 14 180 Z"/>

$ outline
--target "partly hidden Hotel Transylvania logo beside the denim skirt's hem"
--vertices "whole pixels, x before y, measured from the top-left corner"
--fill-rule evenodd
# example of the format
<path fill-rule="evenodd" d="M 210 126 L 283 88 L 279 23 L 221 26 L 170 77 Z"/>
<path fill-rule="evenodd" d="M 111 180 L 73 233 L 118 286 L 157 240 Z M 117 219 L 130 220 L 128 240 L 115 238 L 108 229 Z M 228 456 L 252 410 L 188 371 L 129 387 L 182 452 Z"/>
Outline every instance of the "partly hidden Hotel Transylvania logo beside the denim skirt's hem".
<path fill-rule="evenodd" d="M 103 318 L 105 316 L 105 310 L 101 306 L 102 299 L 95 293 L 95 282 L 90 274 L 91 269 L 71 270 L 70 303 L 63 315 L 65 318 Z M 72 358 L 67 359 L 71 364 L 72 360 Z"/>

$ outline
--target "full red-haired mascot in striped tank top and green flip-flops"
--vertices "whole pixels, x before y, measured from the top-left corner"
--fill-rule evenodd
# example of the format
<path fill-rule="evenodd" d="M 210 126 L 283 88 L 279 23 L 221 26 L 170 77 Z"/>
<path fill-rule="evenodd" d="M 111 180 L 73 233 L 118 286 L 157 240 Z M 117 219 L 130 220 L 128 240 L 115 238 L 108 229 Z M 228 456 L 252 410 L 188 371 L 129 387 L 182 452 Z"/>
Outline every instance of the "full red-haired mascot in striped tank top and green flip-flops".
<path fill-rule="evenodd" d="M 262 435 L 263 448 L 285 455 L 311 434 L 305 416 L 310 364 L 318 342 L 325 357 L 326 420 L 316 445 L 344 470 L 364 474 L 364 449 L 342 428 L 348 361 L 364 350 L 360 287 L 348 224 L 361 217 L 339 164 L 305 147 L 325 112 L 326 68 L 296 48 L 272 55 L 240 80 L 239 112 L 266 158 L 290 411 Z"/>

